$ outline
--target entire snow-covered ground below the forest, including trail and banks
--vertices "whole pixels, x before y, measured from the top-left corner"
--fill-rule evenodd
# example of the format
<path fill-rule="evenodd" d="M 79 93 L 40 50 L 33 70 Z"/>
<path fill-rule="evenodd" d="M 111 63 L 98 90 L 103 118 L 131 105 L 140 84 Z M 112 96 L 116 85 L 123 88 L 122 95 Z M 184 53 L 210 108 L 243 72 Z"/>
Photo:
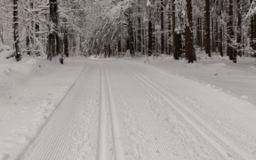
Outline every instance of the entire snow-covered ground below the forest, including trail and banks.
<path fill-rule="evenodd" d="M 0 160 L 254 160 L 253 60 L 218 59 L 3 59 Z"/>

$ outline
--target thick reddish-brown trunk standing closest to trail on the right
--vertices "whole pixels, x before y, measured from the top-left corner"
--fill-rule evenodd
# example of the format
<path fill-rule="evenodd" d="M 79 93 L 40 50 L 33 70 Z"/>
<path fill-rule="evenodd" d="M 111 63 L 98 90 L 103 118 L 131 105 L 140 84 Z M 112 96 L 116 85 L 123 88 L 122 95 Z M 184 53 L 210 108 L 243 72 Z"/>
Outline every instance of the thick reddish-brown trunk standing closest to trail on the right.
<path fill-rule="evenodd" d="M 186 24 L 186 58 L 188 63 L 196 61 L 196 52 L 194 48 L 193 21 L 192 21 L 192 5 L 191 0 L 187 1 L 188 24 Z"/>

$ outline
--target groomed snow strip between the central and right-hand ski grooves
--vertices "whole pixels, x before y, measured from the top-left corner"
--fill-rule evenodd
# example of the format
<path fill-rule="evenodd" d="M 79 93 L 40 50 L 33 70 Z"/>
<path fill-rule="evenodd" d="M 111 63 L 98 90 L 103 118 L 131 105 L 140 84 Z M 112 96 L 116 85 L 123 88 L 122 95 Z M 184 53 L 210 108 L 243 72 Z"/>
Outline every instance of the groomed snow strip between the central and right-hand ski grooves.
<path fill-rule="evenodd" d="M 118 73 L 118 68 L 122 68 L 119 70 L 120 73 Z M 129 69 L 113 65 L 109 70 L 113 72 L 112 81 L 116 80 L 111 84 L 117 85 L 114 88 L 116 88 L 116 97 L 119 97 L 116 98 L 121 112 L 119 117 L 121 122 L 123 121 L 124 123 L 121 126 L 123 126 L 123 132 L 126 135 L 126 140 L 124 140 L 126 157 L 129 156 L 131 160 L 223 159 L 210 146 L 207 146 L 205 141 L 197 136 L 196 132 L 188 124 L 184 124 L 180 117 L 177 117 L 179 118 L 177 120 L 173 117 L 174 120 L 166 123 L 165 118 L 169 118 L 166 116 L 170 114 L 167 111 L 170 111 L 168 109 L 171 106 L 166 108 L 166 104 L 158 104 L 164 103 L 161 97 L 157 98 L 157 94 L 154 91 L 145 91 L 149 87 L 147 85 L 141 87 L 140 85 L 145 84 L 144 81 L 141 81 L 137 76 L 131 75 Z M 130 83 L 127 84 L 127 88 L 125 84 L 120 82 L 124 82 L 129 77 L 135 79 L 128 80 Z M 136 84 L 139 85 L 136 86 Z M 125 90 L 121 89 L 123 85 L 125 85 Z M 129 86 L 131 89 L 129 89 Z M 148 93 L 150 97 L 145 97 Z M 162 113 L 157 113 L 156 109 L 161 110 L 164 115 L 158 116 L 158 114 Z M 171 112 L 173 111 L 171 110 Z M 122 120 L 123 116 L 124 119 Z M 161 119 L 162 116 L 164 119 Z M 170 114 L 169 116 L 175 115 Z M 175 128 L 177 128 L 177 132 L 173 132 Z"/>

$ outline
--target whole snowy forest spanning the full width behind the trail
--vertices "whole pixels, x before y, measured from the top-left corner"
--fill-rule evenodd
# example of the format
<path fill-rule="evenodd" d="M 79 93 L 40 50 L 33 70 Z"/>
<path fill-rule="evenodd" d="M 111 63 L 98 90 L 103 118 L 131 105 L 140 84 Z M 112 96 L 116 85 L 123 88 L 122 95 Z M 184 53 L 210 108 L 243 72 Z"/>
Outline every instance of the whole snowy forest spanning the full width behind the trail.
<path fill-rule="evenodd" d="M 255 57 L 254 0 L 1 0 L 0 42 L 23 54 L 63 60 L 173 55 L 196 61 L 196 51 Z M 2 49 L 3 50 L 3 49 Z"/>

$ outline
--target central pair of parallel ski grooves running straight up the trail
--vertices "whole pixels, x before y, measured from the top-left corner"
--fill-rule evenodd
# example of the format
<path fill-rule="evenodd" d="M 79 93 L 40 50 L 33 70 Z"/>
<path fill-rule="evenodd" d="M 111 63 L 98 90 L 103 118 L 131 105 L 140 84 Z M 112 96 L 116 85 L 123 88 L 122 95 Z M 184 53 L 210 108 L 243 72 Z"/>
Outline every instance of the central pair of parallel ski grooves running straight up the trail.
<path fill-rule="evenodd" d="M 114 150 L 116 160 L 124 160 L 124 149 L 122 139 L 119 132 L 118 118 L 116 115 L 115 100 L 113 99 L 111 85 L 109 83 L 108 71 L 106 67 L 100 63 L 100 117 L 99 117 L 99 135 L 98 135 L 98 148 L 97 148 L 97 159 L 106 159 L 106 125 L 107 125 L 107 112 L 109 108 L 111 129 L 112 129 L 112 140 L 114 143 Z"/>

